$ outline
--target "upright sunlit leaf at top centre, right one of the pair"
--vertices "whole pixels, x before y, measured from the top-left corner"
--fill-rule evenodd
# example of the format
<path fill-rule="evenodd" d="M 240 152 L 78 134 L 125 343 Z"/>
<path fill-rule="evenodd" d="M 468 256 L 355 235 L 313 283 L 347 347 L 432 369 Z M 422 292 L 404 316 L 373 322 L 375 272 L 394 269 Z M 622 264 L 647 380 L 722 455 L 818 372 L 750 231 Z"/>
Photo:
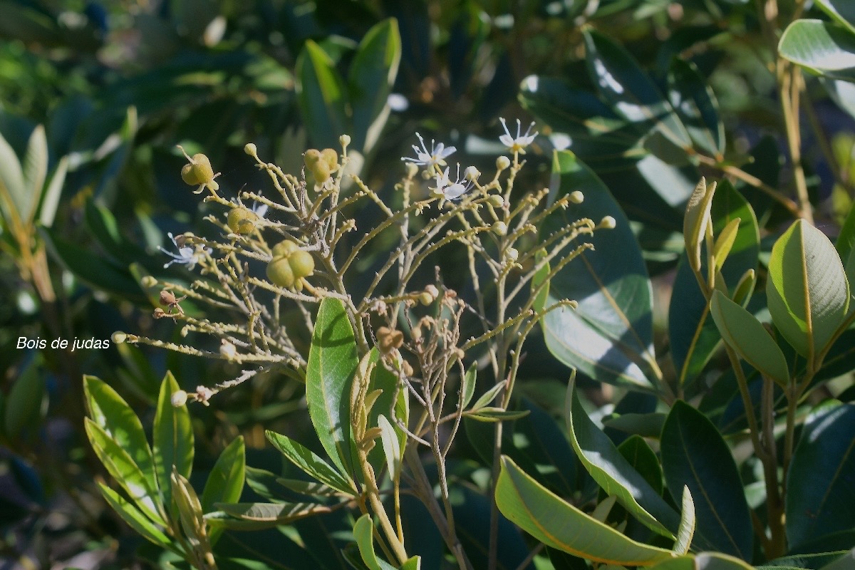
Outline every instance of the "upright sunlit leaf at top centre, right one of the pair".
<path fill-rule="evenodd" d="M 393 18 L 374 25 L 353 57 L 347 81 L 353 109 L 351 144 L 363 154 L 374 148 L 386 124 L 390 112 L 386 101 L 400 62 L 401 36 Z"/>

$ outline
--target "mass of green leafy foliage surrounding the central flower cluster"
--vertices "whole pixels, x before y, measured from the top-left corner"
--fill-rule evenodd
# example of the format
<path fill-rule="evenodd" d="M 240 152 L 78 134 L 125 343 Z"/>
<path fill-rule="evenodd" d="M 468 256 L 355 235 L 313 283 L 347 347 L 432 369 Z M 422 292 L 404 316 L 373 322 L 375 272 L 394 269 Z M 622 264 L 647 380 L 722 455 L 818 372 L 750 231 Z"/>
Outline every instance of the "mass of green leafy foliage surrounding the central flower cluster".
<path fill-rule="evenodd" d="M 171 320 L 151 318 L 141 285 L 144 275 L 189 283 L 156 248 L 169 246 L 167 232 L 205 232 L 211 214 L 177 175 L 186 161 L 176 144 L 204 152 L 219 184 L 238 191 L 265 184 L 245 143 L 298 172 L 305 149 L 348 132 L 363 179 L 394 200 L 414 132 L 486 172 L 504 152 L 499 115 L 540 130 L 516 188 L 548 185 L 551 203 L 585 193 L 546 231 L 604 215 L 616 229 L 598 232 L 584 262 L 548 288 L 544 303 L 579 306 L 548 314 L 526 344 L 508 409 L 529 413 L 503 422 L 504 455 L 493 456 L 492 424 L 463 420 L 447 471 L 473 567 L 489 564 L 499 464 L 499 567 L 653 563 L 687 526 L 692 552 L 714 553 L 669 568 L 820 568 L 855 545 L 852 510 L 841 508 L 855 477 L 849 3 L 3 0 L 0 12 L 4 561 L 180 564 L 151 524 L 193 527 L 169 511 L 173 495 L 204 513 L 295 502 L 281 481 L 305 476 L 282 461 L 300 455 L 287 441 L 310 446 L 304 456 L 327 448 L 305 421 L 304 385 L 281 374 L 187 414 L 168 403 L 173 388 L 239 368 L 132 344 L 50 349 L 120 330 L 180 340 Z M 698 190 L 702 176 L 718 181 L 714 194 Z M 374 247 L 357 262 L 367 276 L 384 253 Z M 441 279 L 466 293 L 455 270 L 465 252 L 455 255 Z M 21 337 L 48 347 L 18 348 Z M 476 409 L 497 381 L 479 370 Z M 130 473 L 104 461 L 122 453 Z M 315 479 L 344 485 L 317 469 Z M 138 486 L 150 491 L 145 516 L 122 520 L 114 508 Z M 601 506 L 607 496 L 616 506 Z M 402 502 L 422 567 L 451 564 L 439 532 L 416 531 L 422 503 Z M 557 511 L 547 539 L 530 521 Z M 271 567 L 374 567 L 369 521 L 318 513 L 265 512 L 256 518 L 280 525 L 215 526 L 221 536 L 204 539 L 236 566 L 270 555 Z M 588 538 L 623 557 L 581 551 Z"/>

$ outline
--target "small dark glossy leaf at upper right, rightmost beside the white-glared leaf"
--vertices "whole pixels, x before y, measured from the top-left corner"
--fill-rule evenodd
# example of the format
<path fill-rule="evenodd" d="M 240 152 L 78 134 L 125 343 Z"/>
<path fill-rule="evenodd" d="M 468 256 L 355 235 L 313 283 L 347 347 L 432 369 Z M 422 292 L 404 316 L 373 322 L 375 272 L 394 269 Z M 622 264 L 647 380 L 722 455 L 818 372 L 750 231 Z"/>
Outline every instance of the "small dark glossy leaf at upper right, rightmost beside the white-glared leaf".
<path fill-rule="evenodd" d="M 710 156 L 724 152 L 724 125 L 707 80 L 692 62 L 675 57 L 668 74 L 669 99 L 693 143 Z"/>

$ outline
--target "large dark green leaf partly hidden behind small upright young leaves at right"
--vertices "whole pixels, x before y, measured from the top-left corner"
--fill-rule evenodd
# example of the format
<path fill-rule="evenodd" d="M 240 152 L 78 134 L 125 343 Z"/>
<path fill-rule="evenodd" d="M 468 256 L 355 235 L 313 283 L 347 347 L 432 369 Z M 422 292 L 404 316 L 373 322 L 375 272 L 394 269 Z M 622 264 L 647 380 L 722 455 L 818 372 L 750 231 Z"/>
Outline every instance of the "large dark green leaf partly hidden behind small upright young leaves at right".
<path fill-rule="evenodd" d="M 740 219 L 734 244 L 722 275 L 733 289 L 742 275 L 758 267 L 760 234 L 757 219 L 751 206 L 728 180 L 716 185 L 712 198 L 711 220 L 713 233 L 718 236 L 732 220 Z M 702 252 L 705 247 L 702 247 Z M 705 254 L 702 253 L 701 273 L 706 274 Z M 721 342 L 721 335 L 711 319 L 709 305 L 700 291 L 698 280 L 689 266 L 686 256 L 681 257 L 674 281 L 674 291 L 668 312 L 671 358 L 677 369 L 681 384 L 687 385 L 698 378 L 706 363 Z"/>

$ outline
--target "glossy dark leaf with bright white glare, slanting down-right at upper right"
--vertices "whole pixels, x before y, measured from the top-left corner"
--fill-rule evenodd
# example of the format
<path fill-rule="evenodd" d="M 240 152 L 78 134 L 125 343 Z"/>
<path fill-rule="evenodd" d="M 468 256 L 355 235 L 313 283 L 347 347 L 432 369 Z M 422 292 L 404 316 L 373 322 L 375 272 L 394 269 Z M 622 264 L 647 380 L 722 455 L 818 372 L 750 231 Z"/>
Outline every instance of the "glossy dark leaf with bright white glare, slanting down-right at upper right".
<path fill-rule="evenodd" d="M 655 128 L 679 146 L 690 146 L 686 127 L 633 56 L 603 33 L 587 30 L 584 34 L 588 74 L 616 113 Z"/>

